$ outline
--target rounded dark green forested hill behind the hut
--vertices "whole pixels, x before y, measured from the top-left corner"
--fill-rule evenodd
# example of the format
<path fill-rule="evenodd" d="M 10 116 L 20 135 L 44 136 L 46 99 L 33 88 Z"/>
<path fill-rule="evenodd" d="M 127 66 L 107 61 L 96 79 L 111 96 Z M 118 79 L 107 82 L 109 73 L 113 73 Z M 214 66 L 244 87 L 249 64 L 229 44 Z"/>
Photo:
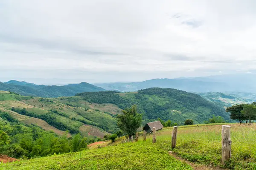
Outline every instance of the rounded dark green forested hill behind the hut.
<path fill-rule="evenodd" d="M 112 103 L 122 109 L 136 104 L 138 112 L 143 113 L 143 119 L 159 117 L 180 123 L 186 119 L 193 119 L 195 123 L 202 123 L 213 114 L 230 119 L 224 108 L 215 103 L 197 94 L 170 88 L 148 88 L 132 93 L 87 92 L 77 94 L 77 96 L 92 103 Z"/>

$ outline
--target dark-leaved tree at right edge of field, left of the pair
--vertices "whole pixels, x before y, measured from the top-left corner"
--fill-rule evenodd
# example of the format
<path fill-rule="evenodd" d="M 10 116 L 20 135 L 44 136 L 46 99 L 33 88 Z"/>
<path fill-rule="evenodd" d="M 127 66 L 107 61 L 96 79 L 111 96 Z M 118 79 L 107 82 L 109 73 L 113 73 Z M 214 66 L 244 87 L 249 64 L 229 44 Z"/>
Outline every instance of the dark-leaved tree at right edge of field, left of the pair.
<path fill-rule="evenodd" d="M 241 111 L 244 110 L 244 104 L 241 105 L 233 105 L 231 107 L 228 107 L 226 109 L 226 112 L 230 113 L 230 119 L 238 120 L 240 123 L 242 123 L 244 120 L 247 120 L 246 116 L 244 116 Z"/>

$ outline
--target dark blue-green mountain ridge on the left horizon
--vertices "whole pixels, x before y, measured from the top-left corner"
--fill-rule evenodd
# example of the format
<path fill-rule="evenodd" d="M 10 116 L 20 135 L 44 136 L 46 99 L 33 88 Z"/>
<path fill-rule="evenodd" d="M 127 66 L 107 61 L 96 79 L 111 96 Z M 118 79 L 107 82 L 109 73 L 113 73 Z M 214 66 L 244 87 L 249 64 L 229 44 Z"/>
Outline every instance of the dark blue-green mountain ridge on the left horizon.
<path fill-rule="evenodd" d="M 81 92 L 106 91 L 103 88 L 91 85 L 87 82 L 70 85 L 35 85 L 28 82 L 19 82 L 11 80 L 9 82 L 0 82 L 0 91 L 13 91 L 24 96 L 40 96 L 40 97 L 60 97 L 74 96 Z"/>

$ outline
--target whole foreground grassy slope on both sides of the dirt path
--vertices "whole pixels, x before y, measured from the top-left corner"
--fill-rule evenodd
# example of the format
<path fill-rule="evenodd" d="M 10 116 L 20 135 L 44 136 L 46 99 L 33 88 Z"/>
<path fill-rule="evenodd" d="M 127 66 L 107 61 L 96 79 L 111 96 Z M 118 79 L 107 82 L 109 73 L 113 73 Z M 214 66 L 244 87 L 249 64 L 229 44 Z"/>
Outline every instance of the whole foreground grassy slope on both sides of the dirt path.
<path fill-rule="evenodd" d="M 227 169 L 256 169 L 255 125 L 231 125 L 232 158 L 224 166 Z M 244 137 L 246 136 L 246 138 Z M 3 170 L 56 169 L 56 170 L 190 170 L 180 157 L 197 163 L 200 170 L 218 169 L 221 166 L 221 125 L 180 126 L 177 145 L 171 148 L 172 128 L 157 131 L 157 142 L 152 136 L 146 142 L 139 137 L 137 143 L 120 143 L 78 153 L 52 155 L 50 157 L 22 160 L 0 165 Z M 172 151 L 172 155 L 168 151 Z M 177 156 L 176 156 L 177 155 Z M 47 162 L 47 164 L 45 163 Z M 57 163 L 58 162 L 58 163 Z M 207 167 L 200 167 L 201 165 Z"/>

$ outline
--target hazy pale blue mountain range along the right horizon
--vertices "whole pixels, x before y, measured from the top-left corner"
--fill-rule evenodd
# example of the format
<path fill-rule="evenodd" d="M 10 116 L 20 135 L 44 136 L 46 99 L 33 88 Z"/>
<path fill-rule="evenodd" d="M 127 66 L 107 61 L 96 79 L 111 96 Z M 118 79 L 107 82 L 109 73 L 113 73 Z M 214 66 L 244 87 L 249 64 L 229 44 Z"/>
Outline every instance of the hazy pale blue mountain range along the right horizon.
<path fill-rule="evenodd" d="M 177 79 L 151 79 L 143 82 L 99 83 L 96 86 L 112 91 L 138 91 L 159 87 L 175 88 L 189 92 L 241 91 L 256 92 L 256 74 L 220 75 Z"/>

